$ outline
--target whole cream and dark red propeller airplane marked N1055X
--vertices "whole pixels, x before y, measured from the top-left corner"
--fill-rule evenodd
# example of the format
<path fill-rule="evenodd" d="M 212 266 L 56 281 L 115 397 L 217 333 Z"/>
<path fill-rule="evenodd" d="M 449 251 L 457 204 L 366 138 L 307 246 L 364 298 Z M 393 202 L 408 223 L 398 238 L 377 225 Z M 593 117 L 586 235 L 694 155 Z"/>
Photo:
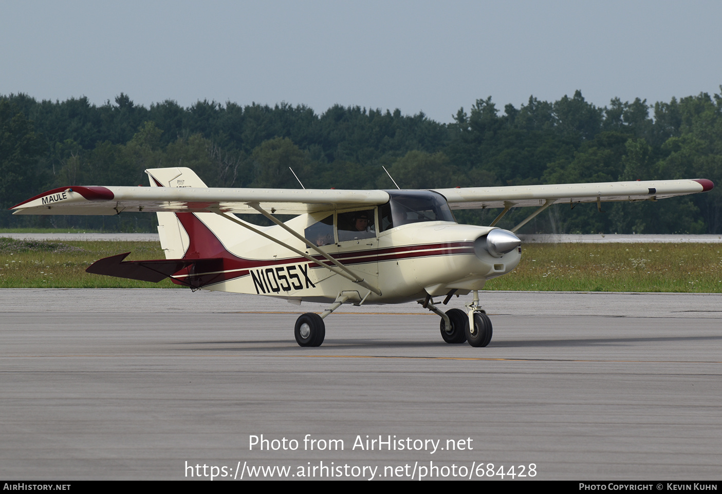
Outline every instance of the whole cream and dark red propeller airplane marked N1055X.
<path fill-rule="evenodd" d="M 556 203 L 658 200 L 705 192 L 710 180 L 656 180 L 437 190 L 286 190 L 206 188 L 188 168 L 146 170 L 150 188 L 72 186 L 12 207 L 14 214 L 114 215 L 155 212 L 165 260 L 123 261 L 87 269 L 143 281 L 170 277 L 193 290 L 231 291 L 302 301 L 333 301 L 295 324 L 301 346 L 323 343 L 323 322 L 342 304 L 418 301 L 441 317 L 446 343 L 483 347 L 492 324 L 479 290 L 521 259 L 521 226 Z M 536 210 L 513 229 L 496 227 L 510 208 Z M 453 209 L 503 208 L 489 226 L 457 224 Z M 234 213 L 258 213 L 257 226 Z M 280 221 L 275 215 L 297 215 Z M 443 312 L 452 296 L 473 298 Z"/>

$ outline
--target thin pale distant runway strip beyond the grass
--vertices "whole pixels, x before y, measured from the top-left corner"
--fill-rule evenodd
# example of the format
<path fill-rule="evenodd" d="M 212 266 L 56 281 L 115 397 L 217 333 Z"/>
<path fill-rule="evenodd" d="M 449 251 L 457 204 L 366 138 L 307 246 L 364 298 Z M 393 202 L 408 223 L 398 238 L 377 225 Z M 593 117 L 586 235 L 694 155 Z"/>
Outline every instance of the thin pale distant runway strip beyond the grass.
<path fill-rule="evenodd" d="M 59 240 L 63 242 L 110 240 L 126 242 L 159 242 L 158 234 L 152 233 L 6 233 L 0 237 L 19 240 Z M 552 234 L 521 234 L 524 244 L 719 244 L 722 235 L 552 235 Z"/>

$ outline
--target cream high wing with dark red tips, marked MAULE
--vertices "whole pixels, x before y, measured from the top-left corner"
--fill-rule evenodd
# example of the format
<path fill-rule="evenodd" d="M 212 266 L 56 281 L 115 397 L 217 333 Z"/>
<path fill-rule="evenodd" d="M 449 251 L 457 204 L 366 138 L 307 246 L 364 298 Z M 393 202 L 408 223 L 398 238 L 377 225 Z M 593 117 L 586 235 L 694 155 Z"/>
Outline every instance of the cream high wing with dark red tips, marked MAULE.
<path fill-rule="evenodd" d="M 376 206 L 387 203 L 383 190 L 297 190 L 207 188 L 198 180 L 183 186 L 178 177 L 196 177 L 188 169 L 147 170 L 157 187 L 71 186 L 48 190 L 13 206 L 14 214 L 114 215 L 123 211 L 169 213 L 261 213 L 303 214 L 337 208 Z M 156 175 L 172 177 L 165 186 Z M 163 180 L 165 182 L 165 180 Z M 554 203 L 657 200 L 705 192 L 710 180 L 651 180 L 563 185 L 523 185 L 436 189 L 452 209 L 551 206 Z"/>

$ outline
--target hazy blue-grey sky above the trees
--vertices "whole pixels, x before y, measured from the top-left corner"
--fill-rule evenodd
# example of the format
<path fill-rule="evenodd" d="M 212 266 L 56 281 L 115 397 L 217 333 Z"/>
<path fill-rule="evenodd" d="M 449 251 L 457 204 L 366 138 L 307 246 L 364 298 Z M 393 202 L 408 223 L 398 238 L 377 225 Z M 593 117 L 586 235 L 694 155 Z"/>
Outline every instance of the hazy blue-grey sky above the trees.
<path fill-rule="evenodd" d="M 649 103 L 722 84 L 722 1 L 6 1 L 0 94 L 336 103 L 451 121 L 580 89 Z"/>

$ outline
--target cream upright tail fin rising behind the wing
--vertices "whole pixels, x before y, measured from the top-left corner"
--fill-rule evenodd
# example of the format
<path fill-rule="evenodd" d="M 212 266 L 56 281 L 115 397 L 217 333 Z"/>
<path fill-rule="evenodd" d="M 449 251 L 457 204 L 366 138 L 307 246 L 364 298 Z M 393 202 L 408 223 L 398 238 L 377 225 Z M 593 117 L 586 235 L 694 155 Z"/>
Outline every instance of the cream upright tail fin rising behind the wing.
<path fill-rule="evenodd" d="M 206 187 L 190 168 L 153 168 L 145 171 L 151 187 Z M 181 259 L 188 250 L 190 239 L 186 229 L 175 213 L 156 213 L 158 215 L 158 234 L 160 247 L 166 259 Z"/>

